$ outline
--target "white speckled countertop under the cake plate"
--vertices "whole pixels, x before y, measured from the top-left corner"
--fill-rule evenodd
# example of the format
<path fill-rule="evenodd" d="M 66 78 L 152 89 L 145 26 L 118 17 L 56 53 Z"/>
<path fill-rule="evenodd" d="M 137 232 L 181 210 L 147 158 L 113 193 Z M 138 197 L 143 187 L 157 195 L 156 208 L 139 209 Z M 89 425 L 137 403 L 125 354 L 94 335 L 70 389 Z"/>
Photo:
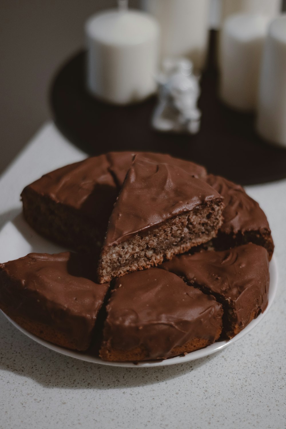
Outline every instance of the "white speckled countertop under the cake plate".
<path fill-rule="evenodd" d="M 0 228 L 21 209 L 26 184 L 84 157 L 45 124 L 0 177 Z M 268 217 L 279 270 L 261 323 L 211 356 L 133 369 L 57 354 L 0 315 L 0 429 L 285 428 L 286 180 L 247 192 Z"/>

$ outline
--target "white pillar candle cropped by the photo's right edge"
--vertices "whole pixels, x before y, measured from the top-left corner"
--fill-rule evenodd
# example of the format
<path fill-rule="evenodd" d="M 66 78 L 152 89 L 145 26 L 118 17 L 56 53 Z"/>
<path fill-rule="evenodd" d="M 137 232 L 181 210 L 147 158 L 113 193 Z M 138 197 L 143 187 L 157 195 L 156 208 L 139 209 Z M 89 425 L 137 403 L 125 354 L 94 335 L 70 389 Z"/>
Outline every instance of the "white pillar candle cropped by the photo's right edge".
<path fill-rule="evenodd" d="M 265 42 L 258 93 L 258 133 L 286 147 L 286 15 L 275 19 Z"/>

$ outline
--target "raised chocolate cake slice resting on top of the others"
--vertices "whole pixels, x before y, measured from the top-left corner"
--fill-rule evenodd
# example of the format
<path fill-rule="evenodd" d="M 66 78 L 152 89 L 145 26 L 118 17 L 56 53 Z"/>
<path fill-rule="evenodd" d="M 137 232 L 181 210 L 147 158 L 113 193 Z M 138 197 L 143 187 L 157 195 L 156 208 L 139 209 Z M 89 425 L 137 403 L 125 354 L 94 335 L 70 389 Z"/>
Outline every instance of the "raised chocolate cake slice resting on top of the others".
<path fill-rule="evenodd" d="M 222 211 L 223 197 L 205 181 L 136 155 L 109 219 L 99 282 L 208 242 L 222 224 Z"/>

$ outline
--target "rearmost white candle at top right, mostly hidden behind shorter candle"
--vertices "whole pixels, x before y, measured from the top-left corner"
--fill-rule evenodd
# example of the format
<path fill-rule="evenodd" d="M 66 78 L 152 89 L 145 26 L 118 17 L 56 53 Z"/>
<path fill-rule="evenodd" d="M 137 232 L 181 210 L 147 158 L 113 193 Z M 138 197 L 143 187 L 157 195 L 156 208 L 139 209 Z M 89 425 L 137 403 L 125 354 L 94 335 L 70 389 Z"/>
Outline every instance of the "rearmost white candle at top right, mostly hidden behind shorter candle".
<path fill-rule="evenodd" d="M 236 13 L 253 13 L 276 16 L 281 11 L 282 0 L 222 0 L 221 22 Z"/>

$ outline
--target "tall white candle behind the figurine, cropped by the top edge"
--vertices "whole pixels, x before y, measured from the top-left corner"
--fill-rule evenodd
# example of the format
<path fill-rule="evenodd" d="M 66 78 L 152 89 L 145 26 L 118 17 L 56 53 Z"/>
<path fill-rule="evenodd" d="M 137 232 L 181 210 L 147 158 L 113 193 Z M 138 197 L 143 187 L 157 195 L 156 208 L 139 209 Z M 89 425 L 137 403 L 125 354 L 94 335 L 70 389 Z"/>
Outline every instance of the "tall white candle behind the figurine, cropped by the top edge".
<path fill-rule="evenodd" d="M 161 59 L 189 57 L 202 69 L 208 46 L 210 0 L 142 0 L 161 28 Z"/>

